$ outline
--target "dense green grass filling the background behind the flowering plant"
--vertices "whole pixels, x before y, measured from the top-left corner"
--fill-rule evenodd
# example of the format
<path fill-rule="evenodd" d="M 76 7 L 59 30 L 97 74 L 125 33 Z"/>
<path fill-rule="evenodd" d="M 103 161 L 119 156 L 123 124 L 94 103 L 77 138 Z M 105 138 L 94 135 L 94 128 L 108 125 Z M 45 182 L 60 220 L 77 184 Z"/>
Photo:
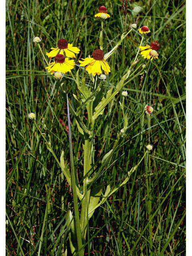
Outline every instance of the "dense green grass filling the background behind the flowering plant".
<path fill-rule="evenodd" d="M 144 37 L 143 45 L 158 40 L 159 59 L 147 66 L 146 74 L 124 85 L 123 90 L 128 92 L 125 114 L 131 124 L 149 103 L 177 148 L 152 117 L 145 115 L 132 126 L 97 182 L 114 186 L 140 161 L 146 145 L 152 144 L 153 151 L 129 183 L 96 209 L 89 222 L 85 252 L 105 256 L 186 255 L 186 2 L 128 1 L 126 27 L 121 4 L 118 0 L 6 1 L 6 255 L 59 256 L 66 248 L 70 255 L 65 216 L 72 207 L 71 188 L 28 119 L 28 113 L 34 112 L 42 133 L 47 139 L 50 135 L 58 159 L 64 150 L 64 158 L 69 160 L 66 104 L 32 38 L 42 38 L 44 54 L 56 47 L 60 38 L 78 47 L 81 51 L 72 70 L 75 75 L 78 60 L 92 56 L 99 48 L 101 22 L 94 14 L 102 5 L 110 14 L 104 21 L 104 53 L 130 30 L 130 24 L 137 24 L 108 59 L 111 73 L 103 93 L 127 72 L 140 45 L 138 28 L 148 26 L 151 33 Z M 138 60 L 138 64 L 146 63 L 140 54 Z M 80 77 L 84 76 L 86 84 L 92 85 L 81 68 Z M 76 84 L 69 73 L 63 81 L 76 109 L 72 96 L 80 97 Z M 96 122 L 92 164 L 99 161 L 94 171 L 123 128 L 121 100 L 119 93 Z M 85 123 L 86 117 L 83 109 Z M 72 115 L 70 118 L 78 183 L 82 179 L 83 150 L 75 119 Z M 81 190 L 82 182 L 79 186 Z M 33 227 L 36 234 L 32 244 Z"/>

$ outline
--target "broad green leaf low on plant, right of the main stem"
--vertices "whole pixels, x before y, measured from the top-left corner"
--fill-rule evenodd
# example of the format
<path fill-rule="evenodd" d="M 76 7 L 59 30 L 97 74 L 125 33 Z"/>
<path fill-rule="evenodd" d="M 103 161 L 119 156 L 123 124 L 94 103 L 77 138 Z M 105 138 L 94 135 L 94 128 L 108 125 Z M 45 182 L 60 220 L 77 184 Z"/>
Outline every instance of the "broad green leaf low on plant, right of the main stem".
<path fill-rule="evenodd" d="M 101 193 L 102 193 L 102 189 L 104 187 L 103 183 L 100 183 L 96 188 L 94 188 L 90 194 L 90 200 L 89 200 L 89 208 L 88 208 L 88 218 L 90 219 L 91 216 L 94 213 L 94 208 L 97 206 Z M 95 208 L 96 209 L 96 208 Z"/>

